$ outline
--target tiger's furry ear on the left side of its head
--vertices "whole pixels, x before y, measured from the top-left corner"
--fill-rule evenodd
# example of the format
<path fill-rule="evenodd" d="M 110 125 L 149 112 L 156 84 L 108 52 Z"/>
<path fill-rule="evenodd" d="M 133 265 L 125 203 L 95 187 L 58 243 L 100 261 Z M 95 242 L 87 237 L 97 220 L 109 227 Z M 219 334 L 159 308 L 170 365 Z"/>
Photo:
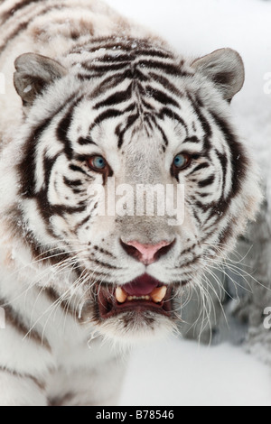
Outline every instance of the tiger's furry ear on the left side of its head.
<path fill-rule="evenodd" d="M 68 73 L 56 60 L 34 53 L 19 56 L 14 66 L 14 87 L 26 107 L 32 106 L 35 98 L 55 79 Z"/>

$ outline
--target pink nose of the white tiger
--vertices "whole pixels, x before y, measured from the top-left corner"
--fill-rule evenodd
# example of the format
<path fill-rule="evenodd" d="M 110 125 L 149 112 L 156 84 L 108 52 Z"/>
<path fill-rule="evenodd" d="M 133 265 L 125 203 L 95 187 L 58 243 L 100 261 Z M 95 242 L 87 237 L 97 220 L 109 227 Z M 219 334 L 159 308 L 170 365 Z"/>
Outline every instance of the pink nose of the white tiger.
<path fill-rule="evenodd" d="M 145 265 L 156 262 L 172 249 L 173 244 L 175 244 L 175 240 L 173 242 L 163 241 L 157 244 L 141 244 L 137 241 L 124 243 L 121 241 L 126 253 L 137 259 L 137 261 L 145 263 Z"/>

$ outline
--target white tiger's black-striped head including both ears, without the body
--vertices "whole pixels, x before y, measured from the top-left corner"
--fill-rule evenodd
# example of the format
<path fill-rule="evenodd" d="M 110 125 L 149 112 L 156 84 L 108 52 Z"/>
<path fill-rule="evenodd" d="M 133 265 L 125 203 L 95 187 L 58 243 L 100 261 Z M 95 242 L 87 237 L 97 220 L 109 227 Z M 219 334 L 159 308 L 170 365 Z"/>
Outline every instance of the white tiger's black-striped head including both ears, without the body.
<path fill-rule="evenodd" d="M 66 290 L 82 323 L 105 336 L 172 330 L 256 211 L 256 172 L 230 124 L 238 53 L 186 62 L 144 40 L 107 39 L 59 62 L 25 54 L 15 68 L 25 114 L 17 211 L 33 254 L 59 269 L 43 284 Z M 152 214 L 119 199 L 119 187 L 142 186 L 182 186 L 182 223 L 176 207 L 158 214 L 158 198 Z"/>

